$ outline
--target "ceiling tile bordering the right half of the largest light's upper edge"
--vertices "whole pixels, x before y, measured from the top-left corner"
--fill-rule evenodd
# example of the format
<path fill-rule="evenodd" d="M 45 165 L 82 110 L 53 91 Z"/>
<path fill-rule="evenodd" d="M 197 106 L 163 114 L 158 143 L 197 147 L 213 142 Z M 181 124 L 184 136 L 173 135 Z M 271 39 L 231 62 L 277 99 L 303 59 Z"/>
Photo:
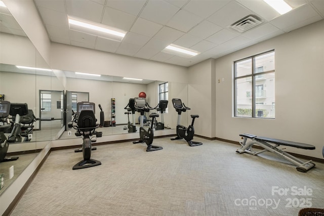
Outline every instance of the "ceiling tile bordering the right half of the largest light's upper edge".
<path fill-rule="evenodd" d="M 109 7 L 105 7 L 102 17 L 102 24 L 129 31 L 136 17 Z"/>

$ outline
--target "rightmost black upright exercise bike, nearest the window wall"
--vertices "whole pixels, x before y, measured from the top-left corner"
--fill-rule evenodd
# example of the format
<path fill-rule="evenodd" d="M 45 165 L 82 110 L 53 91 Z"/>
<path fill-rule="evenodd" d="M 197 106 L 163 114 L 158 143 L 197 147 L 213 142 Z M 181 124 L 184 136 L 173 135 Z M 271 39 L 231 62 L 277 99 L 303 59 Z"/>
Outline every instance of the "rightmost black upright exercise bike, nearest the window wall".
<path fill-rule="evenodd" d="M 186 107 L 182 102 L 181 99 L 172 99 L 173 107 L 178 112 L 178 122 L 177 122 L 177 137 L 171 138 L 171 140 L 180 140 L 185 139 L 189 146 L 200 146 L 203 145 L 203 143 L 200 142 L 194 142 L 192 141 L 193 135 L 194 135 L 194 127 L 193 122 L 195 118 L 198 118 L 199 115 L 190 115 L 192 118 L 191 124 L 188 127 L 185 127 L 180 124 L 181 121 L 181 113 L 185 112 L 187 110 L 190 110 L 189 107 Z"/>

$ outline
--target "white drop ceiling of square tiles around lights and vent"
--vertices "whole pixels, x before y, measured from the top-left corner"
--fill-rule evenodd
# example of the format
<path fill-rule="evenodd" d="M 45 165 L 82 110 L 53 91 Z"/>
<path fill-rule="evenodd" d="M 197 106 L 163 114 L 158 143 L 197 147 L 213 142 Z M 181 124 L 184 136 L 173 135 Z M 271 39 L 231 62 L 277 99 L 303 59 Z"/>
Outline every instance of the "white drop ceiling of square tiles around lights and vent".
<path fill-rule="evenodd" d="M 218 58 L 324 18 L 322 0 L 286 0 L 280 15 L 261 0 L 34 0 L 53 42 L 136 58 L 191 66 Z M 231 25 L 253 15 L 245 32 Z M 121 41 L 69 29 L 68 16 L 126 31 Z M 200 52 L 184 58 L 163 51 L 175 44 Z"/>

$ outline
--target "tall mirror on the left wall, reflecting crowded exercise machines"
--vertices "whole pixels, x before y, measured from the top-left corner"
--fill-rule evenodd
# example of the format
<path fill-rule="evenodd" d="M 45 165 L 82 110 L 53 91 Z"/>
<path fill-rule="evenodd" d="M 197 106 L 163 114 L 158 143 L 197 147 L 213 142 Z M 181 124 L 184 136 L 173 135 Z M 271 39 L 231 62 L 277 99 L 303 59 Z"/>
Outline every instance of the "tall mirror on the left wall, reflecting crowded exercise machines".
<path fill-rule="evenodd" d="M 11 103 L 7 107 L 9 115 L 0 119 L 0 175 L 4 174 L 1 196 L 51 140 L 51 126 L 44 135 L 39 128 L 38 90 L 51 91 L 54 82 L 49 66 L 7 8 L 0 7 L 0 20 L 0 102 Z M 63 90 L 60 82 L 56 85 Z"/>

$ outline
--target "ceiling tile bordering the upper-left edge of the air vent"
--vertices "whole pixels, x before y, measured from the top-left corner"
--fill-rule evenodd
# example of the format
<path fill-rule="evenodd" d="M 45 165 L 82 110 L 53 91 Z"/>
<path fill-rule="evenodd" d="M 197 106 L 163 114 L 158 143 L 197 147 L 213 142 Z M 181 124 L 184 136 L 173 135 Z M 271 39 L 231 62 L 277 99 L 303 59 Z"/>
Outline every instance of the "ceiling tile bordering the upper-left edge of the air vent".
<path fill-rule="evenodd" d="M 251 13 L 251 11 L 232 1 L 210 16 L 208 20 L 216 25 L 227 27 Z"/>

